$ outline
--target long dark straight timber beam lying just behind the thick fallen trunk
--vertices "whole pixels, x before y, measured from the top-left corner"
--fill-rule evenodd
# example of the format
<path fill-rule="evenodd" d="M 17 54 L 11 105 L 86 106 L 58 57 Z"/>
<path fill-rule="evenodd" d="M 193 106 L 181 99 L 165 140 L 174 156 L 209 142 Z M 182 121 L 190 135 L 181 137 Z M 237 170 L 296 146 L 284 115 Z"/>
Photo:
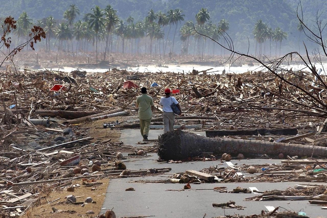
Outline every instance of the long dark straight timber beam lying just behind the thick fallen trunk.
<path fill-rule="evenodd" d="M 216 136 L 238 136 L 238 135 L 291 135 L 295 136 L 298 134 L 298 130 L 295 128 L 292 129 L 234 129 L 234 130 L 206 130 L 207 137 L 216 137 Z"/>

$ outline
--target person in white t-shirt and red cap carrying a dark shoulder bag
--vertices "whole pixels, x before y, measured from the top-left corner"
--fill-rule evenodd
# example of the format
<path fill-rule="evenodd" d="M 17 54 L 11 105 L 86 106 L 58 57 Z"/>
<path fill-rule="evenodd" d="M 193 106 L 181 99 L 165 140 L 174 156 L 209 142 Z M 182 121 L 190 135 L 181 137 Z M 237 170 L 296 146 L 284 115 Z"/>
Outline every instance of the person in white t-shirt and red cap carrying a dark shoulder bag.
<path fill-rule="evenodd" d="M 179 115 L 182 114 L 182 109 L 178 101 L 170 96 L 170 89 L 165 89 L 164 94 L 165 97 L 161 98 L 159 105 L 163 106 L 163 133 L 166 133 L 174 130 L 175 113 L 173 112 L 171 105 L 173 103 L 176 104 L 181 112 Z"/>

